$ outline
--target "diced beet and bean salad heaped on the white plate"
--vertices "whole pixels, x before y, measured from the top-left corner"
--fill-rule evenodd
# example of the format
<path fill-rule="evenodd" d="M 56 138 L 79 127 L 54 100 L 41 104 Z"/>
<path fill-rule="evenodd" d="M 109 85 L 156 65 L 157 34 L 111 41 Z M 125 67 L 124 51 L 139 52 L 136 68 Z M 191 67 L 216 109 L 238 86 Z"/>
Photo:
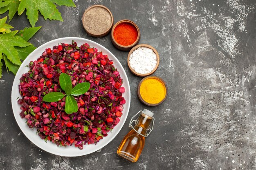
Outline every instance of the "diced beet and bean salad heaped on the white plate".
<path fill-rule="evenodd" d="M 29 128 L 45 141 L 57 146 L 74 145 L 83 149 L 85 144 L 96 144 L 106 137 L 116 126 L 122 115 L 122 78 L 107 55 L 92 48 L 89 44 L 77 46 L 62 43 L 53 49 L 46 49 L 36 60 L 28 65 L 28 73 L 20 78 L 18 100 L 20 116 L 27 119 Z M 66 113 L 68 90 L 63 91 L 60 75 L 65 73 L 70 81 L 70 89 L 82 83 L 90 84 L 89 90 L 75 95 L 78 111 Z M 62 80 L 63 81 L 63 80 Z M 82 88 L 82 87 L 81 87 Z M 66 88 L 67 89 L 67 88 Z M 50 93 L 63 93 L 58 102 L 45 102 L 44 96 Z M 78 93 L 78 92 L 77 92 Z M 70 91 L 69 91 L 70 94 Z"/>

